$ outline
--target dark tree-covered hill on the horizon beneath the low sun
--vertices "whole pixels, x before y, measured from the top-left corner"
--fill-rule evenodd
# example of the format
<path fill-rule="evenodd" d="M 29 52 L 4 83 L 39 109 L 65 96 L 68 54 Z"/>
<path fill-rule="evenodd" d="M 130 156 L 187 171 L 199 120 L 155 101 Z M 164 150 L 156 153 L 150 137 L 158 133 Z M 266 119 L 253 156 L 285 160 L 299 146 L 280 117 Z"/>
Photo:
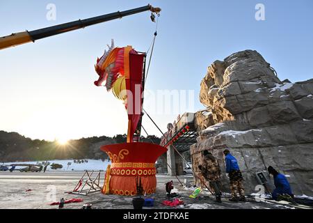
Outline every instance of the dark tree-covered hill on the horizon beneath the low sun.
<path fill-rule="evenodd" d="M 106 159 L 106 153 L 100 151 L 105 144 L 126 142 L 126 134 L 115 137 L 90 137 L 70 140 L 65 146 L 56 141 L 26 138 L 17 132 L 0 131 L 0 162 L 63 160 L 63 159 Z M 142 141 L 159 144 L 158 137 L 142 137 Z"/>

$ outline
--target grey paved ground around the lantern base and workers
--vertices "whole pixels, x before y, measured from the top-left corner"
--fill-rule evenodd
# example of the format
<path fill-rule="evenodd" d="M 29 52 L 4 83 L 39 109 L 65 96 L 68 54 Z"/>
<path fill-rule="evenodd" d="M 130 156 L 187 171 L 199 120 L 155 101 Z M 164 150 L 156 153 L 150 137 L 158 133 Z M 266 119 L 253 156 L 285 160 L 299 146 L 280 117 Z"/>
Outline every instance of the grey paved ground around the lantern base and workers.
<path fill-rule="evenodd" d="M 58 208 L 50 206 L 49 203 L 64 199 L 81 198 L 81 203 L 65 204 L 65 208 L 81 208 L 85 203 L 92 203 L 93 208 L 119 208 L 133 209 L 131 199 L 133 197 L 120 197 L 117 195 L 104 195 L 101 192 L 94 192 L 88 196 L 67 194 L 71 192 L 81 176 L 83 171 L 48 171 L 46 173 L 10 173 L 0 172 L 0 208 L 1 209 L 49 209 Z M 104 182 L 104 172 L 101 173 L 100 185 Z M 179 180 L 184 183 L 184 179 L 193 181 L 192 176 L 179 176 Z M 196 199 L 188 196 L 193 189 L 180 186 L 175 177 L 166 175 L 157 175 L 157 192 L 153 197 L 154 207 L 158 209 L 172 208 L 163 206 L 162 201 L 168 200 L 166 197 L 165 184 L 173 180 L 175 189 L 173 192 L 179 194 L 179 199 L 184 201 L 184 206 L 176 208 L 193 209 L 218 209 L 218 208 L 237 208 L 237 209 L 273 209 L 273 208 L 293 208 L 291 206 L 257 202 L 255 199 L 248 199 L 246 203 L 232 203 L 228 201 L 227 194 L 223 197 L 223 203 L 216 203 L 214 197 L 208 193 L 202 193 Z M 30 190 L 26 192 L 26 190 Z"/>

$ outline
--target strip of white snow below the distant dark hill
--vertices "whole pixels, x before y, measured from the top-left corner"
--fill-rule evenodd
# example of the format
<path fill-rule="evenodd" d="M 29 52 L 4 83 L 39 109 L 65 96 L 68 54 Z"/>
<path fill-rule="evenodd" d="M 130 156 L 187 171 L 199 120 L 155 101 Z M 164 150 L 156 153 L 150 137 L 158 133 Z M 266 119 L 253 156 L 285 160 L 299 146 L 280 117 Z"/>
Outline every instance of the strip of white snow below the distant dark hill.
<path fill-rule="evenodd" d="M 5 165 L 11 165 L 11 164 L 41 164 L 42 162 L 46 162 L 46 160 L 43 161 L 33 161 L 33 162 L 6 162 Z M 84 170 L 106 170 L 106 167 L 108 167 L 111 162 L 109 160 L 88 160 L 88 162 L 83 163 L 74 163 L 74 160 L 48 160 L 50 164 L 56 163 L 61 164 L 63 166 L 62 169 L 57 169 L 58 171 L 84 171 Z M 67 168 L 67 163 L 71 162 L 71 164 Z M 24 167 L 16 167 L 16 169 L 22 169 Z M 54 171 L 51 169 L 50 165 L 47 167 L 47 171 Z"/>

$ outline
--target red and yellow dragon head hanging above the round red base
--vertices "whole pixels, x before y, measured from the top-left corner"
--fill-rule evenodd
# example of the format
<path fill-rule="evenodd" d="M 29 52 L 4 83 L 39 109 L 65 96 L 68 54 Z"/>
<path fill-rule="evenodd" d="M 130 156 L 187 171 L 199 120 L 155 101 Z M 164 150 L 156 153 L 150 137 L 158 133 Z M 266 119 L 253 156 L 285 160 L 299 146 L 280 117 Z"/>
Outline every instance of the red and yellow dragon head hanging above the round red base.
<path fill-rule="evenodd" d="M 113 95 L 124 102 L 129 119 L 127 142 L 132 142 L 142 112 L 145 54 L 136 52 L 131 46 L 114 47 L 113 40 L 108 47 L 108 51 L 97 59 L 95 71 L 99 79 L 94 83 L 102 86 L 105 82 L 106 90 L 113 91 Z"/>

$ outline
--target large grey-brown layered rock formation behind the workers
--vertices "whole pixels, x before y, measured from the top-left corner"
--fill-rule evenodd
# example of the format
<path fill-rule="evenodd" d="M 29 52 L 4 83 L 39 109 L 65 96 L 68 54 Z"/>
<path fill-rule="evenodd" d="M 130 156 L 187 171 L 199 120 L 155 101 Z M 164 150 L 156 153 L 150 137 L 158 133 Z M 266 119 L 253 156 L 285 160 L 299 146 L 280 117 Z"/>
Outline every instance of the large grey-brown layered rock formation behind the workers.
<path fill-rule="evenodd" d="M 199 137 L 191 146 L 194 169 L 201 162 L 200 152 L 209 149 L 225 173 L 223 149 L 230 148 L 248 192 L 255 192 L 255 174 L 266 174 L 271 165 L 289 177 L 295 194 L 312 196 L 312 95 L 313 79 L 280 81 L 256 51 L 215 61 L 201 82 L 200 102 L 207 109 L 195 114 Z M 223 182 L 227 188 L 225 174 Z"/>

